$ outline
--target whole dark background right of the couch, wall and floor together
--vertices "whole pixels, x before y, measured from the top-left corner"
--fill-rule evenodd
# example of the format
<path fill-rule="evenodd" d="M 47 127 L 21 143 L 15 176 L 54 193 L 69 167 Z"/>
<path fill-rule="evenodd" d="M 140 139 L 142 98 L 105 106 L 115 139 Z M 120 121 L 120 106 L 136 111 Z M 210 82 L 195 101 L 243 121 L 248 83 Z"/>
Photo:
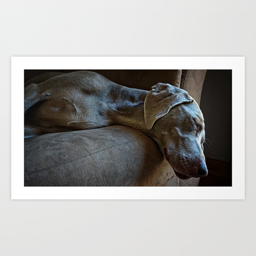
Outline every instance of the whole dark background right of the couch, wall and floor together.
<path fill-rule="evenodd" d="M 204 115 L 204 155 L 209 170 L 199 186 L 232 185 L 232 70 L 207 70 L 200 108 Z"/>

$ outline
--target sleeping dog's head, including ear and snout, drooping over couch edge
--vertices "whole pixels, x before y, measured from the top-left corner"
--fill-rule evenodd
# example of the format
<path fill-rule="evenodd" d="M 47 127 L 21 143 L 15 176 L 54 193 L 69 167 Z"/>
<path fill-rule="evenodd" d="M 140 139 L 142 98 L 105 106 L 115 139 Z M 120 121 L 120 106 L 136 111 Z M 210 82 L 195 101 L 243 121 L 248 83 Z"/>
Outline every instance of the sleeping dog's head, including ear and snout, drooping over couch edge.
<path fill-rule="evenodd" d="M 146 128 L 179 178 L 207 176 L 203 114 L 187 91 L 156 84 L 144 101 L 144 118 Z"/>

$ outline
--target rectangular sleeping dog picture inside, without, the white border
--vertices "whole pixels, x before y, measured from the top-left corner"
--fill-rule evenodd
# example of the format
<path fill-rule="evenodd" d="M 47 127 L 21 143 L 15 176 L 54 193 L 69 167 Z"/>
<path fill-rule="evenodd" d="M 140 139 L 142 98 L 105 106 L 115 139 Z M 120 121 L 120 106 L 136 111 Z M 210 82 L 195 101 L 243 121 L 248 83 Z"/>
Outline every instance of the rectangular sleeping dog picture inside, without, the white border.
<path fill-rule="evenodd" d="M 231 70 L 26 69 L 24 83 L 25 186 L 231 186 Z"/>

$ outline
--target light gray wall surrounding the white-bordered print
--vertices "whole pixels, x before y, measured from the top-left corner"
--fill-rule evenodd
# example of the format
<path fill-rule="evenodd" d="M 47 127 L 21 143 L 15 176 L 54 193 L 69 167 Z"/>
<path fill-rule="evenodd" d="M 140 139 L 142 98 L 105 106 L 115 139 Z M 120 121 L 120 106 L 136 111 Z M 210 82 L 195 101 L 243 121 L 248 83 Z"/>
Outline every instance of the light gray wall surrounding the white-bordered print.
<path fill-rule="evenodd" d="M 0 254 L 255 255 L 255 12 L 251 0 L 3 1 Z M 246 199 L 11 200 L 11 56 L 245 56 Z"/>

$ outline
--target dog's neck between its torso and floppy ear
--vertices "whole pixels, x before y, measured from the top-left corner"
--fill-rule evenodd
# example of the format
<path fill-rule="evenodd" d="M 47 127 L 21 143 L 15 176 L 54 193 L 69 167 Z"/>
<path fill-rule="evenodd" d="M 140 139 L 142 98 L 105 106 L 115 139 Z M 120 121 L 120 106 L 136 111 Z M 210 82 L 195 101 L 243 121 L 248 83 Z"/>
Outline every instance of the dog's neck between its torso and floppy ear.
<path fill-rule="evenodd" d="M 144 100 L 148 91 L 114 86 L 108 93 L 111 119 L 114 124 L 131 126 L 150 136 L 144 120 Z"/>

